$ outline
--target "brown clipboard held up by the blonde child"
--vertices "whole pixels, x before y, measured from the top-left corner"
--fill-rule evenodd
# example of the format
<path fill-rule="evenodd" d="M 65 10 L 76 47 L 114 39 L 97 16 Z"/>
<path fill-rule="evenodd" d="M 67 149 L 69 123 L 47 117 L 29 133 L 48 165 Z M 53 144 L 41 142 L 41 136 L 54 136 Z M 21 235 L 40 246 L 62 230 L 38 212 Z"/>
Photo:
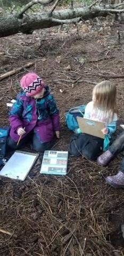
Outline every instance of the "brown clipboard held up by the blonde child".
<path fill-rule="evenodd" d="M 101 131 L 105 127 L 105 123 L 79 116 L 77 116 L 77 122 L 82 133 L 87 133 L 102 139 L 105 138 L 105 135 Z"/>

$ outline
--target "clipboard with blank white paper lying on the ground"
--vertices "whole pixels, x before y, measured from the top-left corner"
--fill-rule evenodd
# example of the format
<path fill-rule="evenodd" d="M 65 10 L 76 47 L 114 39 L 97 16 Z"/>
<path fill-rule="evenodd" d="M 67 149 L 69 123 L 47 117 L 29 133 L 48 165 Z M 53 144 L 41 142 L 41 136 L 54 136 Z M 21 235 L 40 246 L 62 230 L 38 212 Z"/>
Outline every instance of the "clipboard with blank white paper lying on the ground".
<path fill-rule="evenodd" d="M 38 154 L 15 151 L 0 171 L 0 175 L 11 179 L 24 180 L 37 157 Z"/>

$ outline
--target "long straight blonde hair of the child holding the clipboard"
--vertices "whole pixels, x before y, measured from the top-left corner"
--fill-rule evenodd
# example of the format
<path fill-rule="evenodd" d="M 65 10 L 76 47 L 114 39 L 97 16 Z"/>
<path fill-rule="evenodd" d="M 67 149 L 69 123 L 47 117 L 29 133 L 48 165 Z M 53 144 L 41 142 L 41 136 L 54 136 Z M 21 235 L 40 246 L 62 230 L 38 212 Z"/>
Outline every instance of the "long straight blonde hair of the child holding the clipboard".
<path fill-rule="evenodd" d="M 110 81 L 98 83 L 93 89 L 94 107 L 105 111 L 105 115 L 109 114 L 109 121 L 112 121 L 114 113 L 117 113 L 116 96 L 116 86 Z"/>

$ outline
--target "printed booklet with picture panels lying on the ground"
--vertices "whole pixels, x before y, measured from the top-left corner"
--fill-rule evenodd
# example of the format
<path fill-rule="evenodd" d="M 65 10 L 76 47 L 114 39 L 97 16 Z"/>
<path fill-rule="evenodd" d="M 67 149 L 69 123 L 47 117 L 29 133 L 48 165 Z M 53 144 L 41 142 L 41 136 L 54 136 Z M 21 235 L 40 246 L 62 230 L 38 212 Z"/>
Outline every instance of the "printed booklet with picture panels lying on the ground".
<path fill-rule="evenodd" d="M 67 174 L 68 151 L 46 150 L 44 152 L 40 173 Z"/>

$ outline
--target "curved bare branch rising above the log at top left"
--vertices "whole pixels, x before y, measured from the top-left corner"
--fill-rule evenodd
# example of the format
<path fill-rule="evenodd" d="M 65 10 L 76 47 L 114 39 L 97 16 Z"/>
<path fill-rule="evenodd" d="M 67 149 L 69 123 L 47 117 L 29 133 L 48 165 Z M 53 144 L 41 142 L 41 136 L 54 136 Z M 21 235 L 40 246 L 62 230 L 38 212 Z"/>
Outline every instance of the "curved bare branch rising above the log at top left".
<path fill-rule="evenodd" d="M 31 2 L 29 2 L 28 4 L 26 4 L 22 10 L 17 13 L 16 17 L 18 18 L 22 18 L 23 17 L 23 14 L 28 10 L 30 9 L 30 7 L 32 5 L 35 5 L 35 4 L 42 4 L 42 5 L 47 5 L 47 4 L 50 4 L 52 3 L 54 0 L 32 0 Z"/>

